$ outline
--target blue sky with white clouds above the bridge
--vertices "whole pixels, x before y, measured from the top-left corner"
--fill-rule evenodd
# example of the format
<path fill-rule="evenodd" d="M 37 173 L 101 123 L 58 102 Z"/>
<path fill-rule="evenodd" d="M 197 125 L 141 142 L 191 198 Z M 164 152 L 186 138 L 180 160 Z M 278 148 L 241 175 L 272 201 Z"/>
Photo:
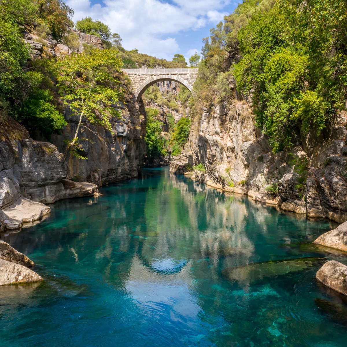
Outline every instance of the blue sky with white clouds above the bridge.
<path fill-rule="evenodd" d="M 240 0 L 67 0 L 74 22 L 99 19 L 122 38 L 126 50 L 187 62 L 202 48 L 210 28 L 234 11 Z"/>

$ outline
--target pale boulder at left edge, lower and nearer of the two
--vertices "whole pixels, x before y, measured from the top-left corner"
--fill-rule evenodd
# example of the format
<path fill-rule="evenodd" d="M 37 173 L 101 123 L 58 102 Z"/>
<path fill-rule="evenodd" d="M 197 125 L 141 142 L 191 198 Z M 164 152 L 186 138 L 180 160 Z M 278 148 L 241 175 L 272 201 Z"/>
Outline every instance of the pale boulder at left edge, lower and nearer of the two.
<path fill-rule="evenodd" d="M 43 281 L 36 272 L 23 265 L 0 259 L 0 286 Z"/>

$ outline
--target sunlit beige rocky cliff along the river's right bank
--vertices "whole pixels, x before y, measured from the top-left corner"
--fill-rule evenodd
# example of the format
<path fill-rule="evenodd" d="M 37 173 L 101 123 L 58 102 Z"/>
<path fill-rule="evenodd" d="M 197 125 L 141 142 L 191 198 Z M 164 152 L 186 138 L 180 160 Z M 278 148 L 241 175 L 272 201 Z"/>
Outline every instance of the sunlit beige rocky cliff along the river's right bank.
<path fill-rule="evenodd" d="M 278 205 L 313 218 L 347 220 L 347 117 L 341 114 L 327 141 L 274 154 L 255 128 L 244 100 L 205 109 L 193 122 L 184 151 L 173 158 L 171 172 L 194 165 L 193 178 L 225 191 Z M 310 142 L 308 142 L 310 143 Z"/>

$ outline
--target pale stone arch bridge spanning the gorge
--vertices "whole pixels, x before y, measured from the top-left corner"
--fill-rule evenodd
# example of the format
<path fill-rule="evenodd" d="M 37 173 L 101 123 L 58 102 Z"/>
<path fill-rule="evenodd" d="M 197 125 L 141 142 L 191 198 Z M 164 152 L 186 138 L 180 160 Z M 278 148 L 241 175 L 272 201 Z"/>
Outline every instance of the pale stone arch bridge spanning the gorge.
<path fill-rule="evenodd" d="M 193 84 L 199 69 L 123 69 L 130 77 L 136 101 L 151 85 L 161 81 L 175 81 L 193 91 Z"/>

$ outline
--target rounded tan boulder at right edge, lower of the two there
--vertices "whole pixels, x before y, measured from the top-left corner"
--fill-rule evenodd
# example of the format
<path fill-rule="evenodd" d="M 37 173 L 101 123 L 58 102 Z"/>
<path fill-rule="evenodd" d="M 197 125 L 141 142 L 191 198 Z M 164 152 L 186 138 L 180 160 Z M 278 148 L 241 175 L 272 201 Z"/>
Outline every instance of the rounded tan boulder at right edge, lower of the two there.
<path fill-rule="evenodd" d="M 325 286 L 347 295 L 347 266 L 338 261 L 326 262 L 316 273 L 316 279 Z"/>

